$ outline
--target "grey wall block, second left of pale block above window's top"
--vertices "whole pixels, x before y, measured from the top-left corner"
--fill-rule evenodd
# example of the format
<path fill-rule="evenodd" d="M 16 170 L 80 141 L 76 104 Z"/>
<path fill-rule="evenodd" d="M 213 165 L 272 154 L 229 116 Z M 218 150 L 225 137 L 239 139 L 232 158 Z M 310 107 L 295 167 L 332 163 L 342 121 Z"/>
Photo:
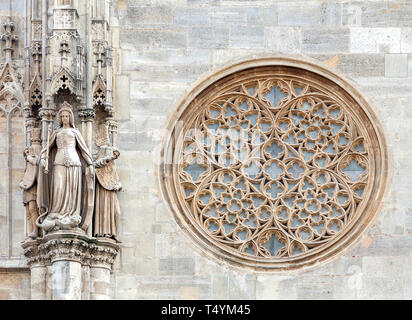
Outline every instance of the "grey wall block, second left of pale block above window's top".
<path fill-rule="evenodd" d="M 229 27 L 194 27 L 189 29 L 189 47 L 221 49 L 229 45 Z"/>

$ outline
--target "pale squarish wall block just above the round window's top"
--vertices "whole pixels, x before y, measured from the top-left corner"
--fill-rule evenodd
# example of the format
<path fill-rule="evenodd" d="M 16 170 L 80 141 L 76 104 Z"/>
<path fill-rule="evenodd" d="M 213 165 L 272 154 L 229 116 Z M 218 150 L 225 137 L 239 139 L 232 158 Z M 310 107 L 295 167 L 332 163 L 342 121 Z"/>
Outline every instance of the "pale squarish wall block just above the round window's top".
<path fill-rule="evenodd" d="M 300 53 L 302 34 L 298 27 L 266 27 L 266 48 L 279 53 Z"/>

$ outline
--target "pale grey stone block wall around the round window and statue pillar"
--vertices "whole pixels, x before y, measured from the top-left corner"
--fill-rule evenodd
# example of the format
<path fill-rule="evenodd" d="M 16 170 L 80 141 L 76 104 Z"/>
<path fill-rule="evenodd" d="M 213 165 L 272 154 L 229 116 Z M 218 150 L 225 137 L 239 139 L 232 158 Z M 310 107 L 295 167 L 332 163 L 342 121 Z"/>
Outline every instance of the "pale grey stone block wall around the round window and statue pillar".
<path fill-rule="evenodd" d="M 122 243 L 111 298 L 412 299 L 409 1 L 109 2 L 116 145 L 122 152 L 117 168 L 123 185 Z M 11 4 L 20 39 L 13 59 L 24 75 L 26 11 L 23 1 Z M 8 1 L 2 1 L 2 24 L 9 10 Z M 280 274 L 255 273 L 204 255 L 167 209 L 156 171 L 167 119 L 198 79 L 237 60 L 275 54 L 312 58 L 353 80 L 383 127 L 390 177 L 373 227 L 345 254 L 305 272 Z M 0 297 L 28 299 L 18 189 L 24 124 L 21 118 L 11 123 L 8 129 L 0 118 L 0 132 L 11 139 L 0 142 Z"/>

